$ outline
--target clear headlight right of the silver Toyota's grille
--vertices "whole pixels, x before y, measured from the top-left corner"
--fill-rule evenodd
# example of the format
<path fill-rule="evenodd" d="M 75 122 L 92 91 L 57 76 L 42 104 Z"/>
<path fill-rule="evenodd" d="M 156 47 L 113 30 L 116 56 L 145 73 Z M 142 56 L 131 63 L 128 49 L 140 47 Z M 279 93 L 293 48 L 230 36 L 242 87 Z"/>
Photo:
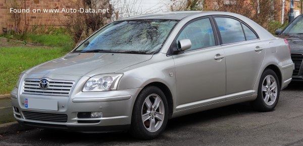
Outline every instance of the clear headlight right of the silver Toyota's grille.
<path fill-rule="evenodd" d="M 83 87 L 83 92 L 117 90 L 123 74 L 103 74 L 88 79 Z"/>

